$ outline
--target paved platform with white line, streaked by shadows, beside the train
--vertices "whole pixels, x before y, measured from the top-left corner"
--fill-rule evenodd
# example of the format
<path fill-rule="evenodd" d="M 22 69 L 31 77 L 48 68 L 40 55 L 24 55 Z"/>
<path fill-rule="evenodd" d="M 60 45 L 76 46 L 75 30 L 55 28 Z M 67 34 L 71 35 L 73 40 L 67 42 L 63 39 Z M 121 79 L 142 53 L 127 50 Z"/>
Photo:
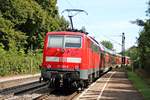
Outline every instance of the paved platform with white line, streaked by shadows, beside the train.
<path fill-rule="evenodd" d="M 144 100 L 123 71 L 111 71 L 91 84 L 77 100 Z"/>

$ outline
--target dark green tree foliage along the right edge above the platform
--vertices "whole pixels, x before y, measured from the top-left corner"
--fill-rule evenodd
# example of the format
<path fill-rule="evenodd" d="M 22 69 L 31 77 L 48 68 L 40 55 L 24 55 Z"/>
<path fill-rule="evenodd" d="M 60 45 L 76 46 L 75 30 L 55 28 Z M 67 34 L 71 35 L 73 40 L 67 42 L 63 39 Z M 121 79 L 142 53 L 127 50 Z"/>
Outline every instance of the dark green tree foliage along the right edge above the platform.
<path fill-rule="evenodd" d="M 146 12 L 147 16 L 150 16 L 150 1 Z M 150 18 L 144 22 L 143 30 L 140 32 L 138 48 L 141 66 L 150 71 Z"/>

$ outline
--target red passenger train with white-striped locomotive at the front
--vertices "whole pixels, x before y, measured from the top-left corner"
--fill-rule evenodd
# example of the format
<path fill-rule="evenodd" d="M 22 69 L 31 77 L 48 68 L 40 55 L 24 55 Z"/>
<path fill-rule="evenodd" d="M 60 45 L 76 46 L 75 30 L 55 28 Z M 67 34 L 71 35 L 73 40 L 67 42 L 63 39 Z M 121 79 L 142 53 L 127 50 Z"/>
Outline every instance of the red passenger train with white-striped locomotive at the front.
<path fill-rule="evenodd" d="M 129 57 L 126 65 L 129 64 Z M 120 67 L 120 54 L 105 48 L 87 32 L 47 32 L 44 40 L 41 78 L 52 88 L 85 88 L 102 73 Z"/>

